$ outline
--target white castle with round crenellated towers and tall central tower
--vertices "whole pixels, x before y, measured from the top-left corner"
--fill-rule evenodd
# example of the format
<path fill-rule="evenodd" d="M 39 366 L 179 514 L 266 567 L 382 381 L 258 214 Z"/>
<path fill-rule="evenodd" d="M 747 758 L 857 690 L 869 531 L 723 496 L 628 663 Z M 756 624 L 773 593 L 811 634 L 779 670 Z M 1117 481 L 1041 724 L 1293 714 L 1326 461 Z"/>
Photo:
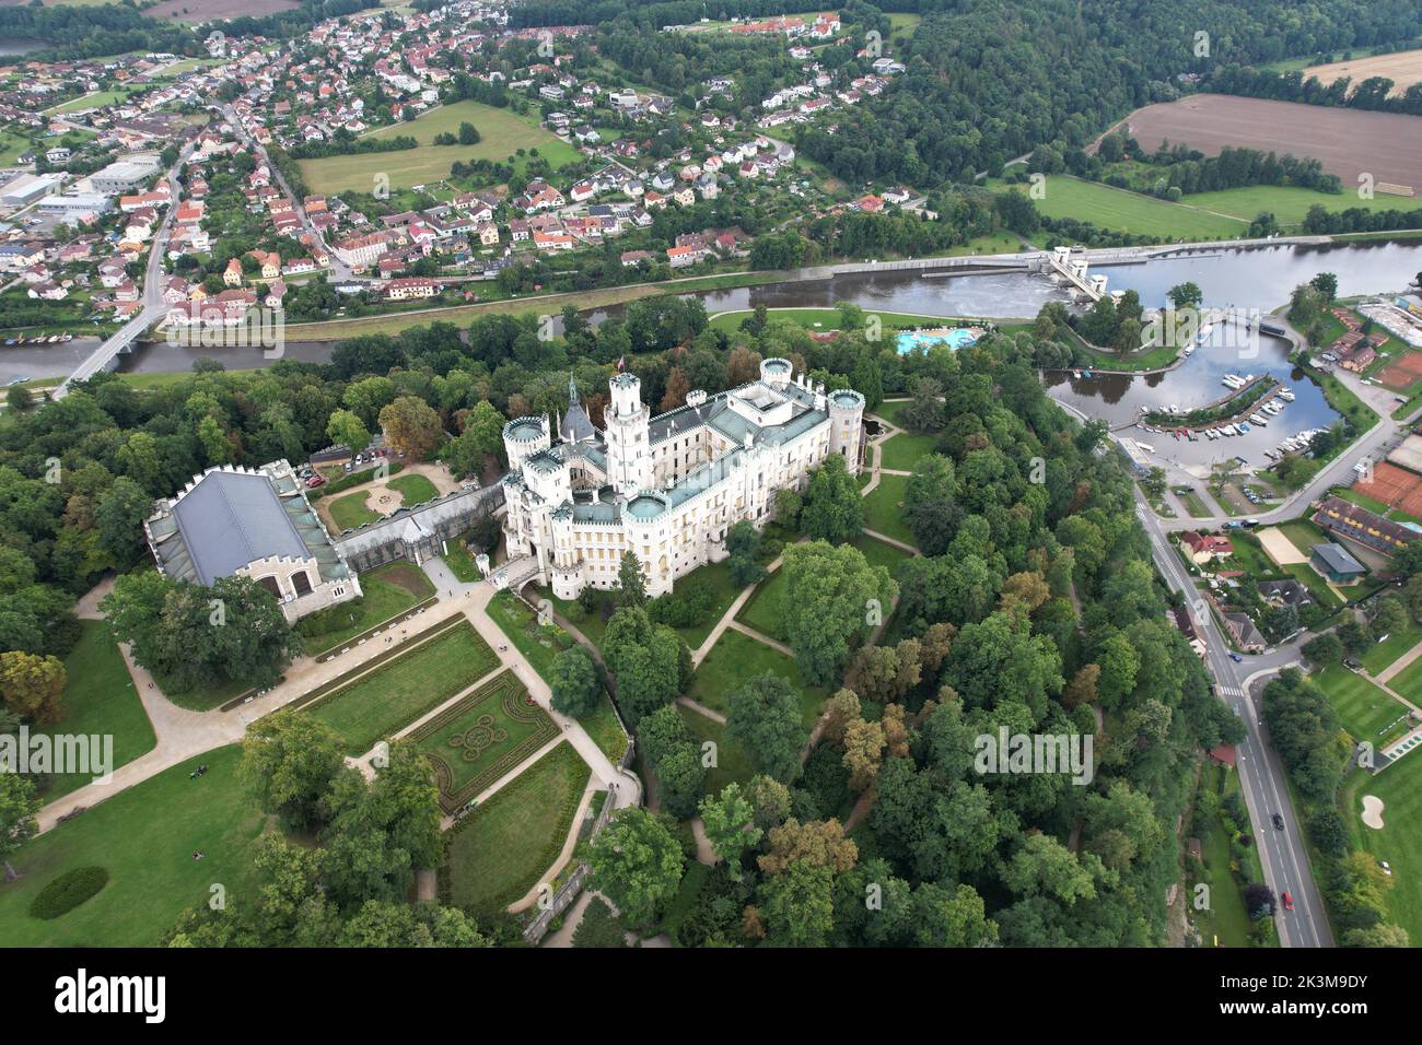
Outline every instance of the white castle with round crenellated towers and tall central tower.
<path fill-rule="evenodd" d="M 725 533 L 764 526 L 776 492 L 803 489 L 830 454 L 859 472 L 865 397 L 825 394 L 789 360 L 761 363 L 761 380 L 653 417 L 641 381 L 617 374 L 599 432 L 577 401 L 557 428 L 547 417 L 503 427 L 509 559 L 535 556 L 540 584 L 573 599 L 589 584 L 617 587 L 624 552 L 643 564 L 647 593 L 727 557 Z"/>

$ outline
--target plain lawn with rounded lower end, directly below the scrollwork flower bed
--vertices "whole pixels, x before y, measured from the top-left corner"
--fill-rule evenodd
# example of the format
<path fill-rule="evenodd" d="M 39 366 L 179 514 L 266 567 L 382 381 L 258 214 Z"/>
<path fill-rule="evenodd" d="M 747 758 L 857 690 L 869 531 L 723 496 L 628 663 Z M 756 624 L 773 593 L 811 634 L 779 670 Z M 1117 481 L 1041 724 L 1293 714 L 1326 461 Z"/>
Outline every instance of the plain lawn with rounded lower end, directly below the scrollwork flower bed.
<path fill-rule="evenodd" d="M 589 775 L 559 744 L 461 820 L 441 870 L 449 903 L 492 914 L 532 889 L 562 852 Z"/>

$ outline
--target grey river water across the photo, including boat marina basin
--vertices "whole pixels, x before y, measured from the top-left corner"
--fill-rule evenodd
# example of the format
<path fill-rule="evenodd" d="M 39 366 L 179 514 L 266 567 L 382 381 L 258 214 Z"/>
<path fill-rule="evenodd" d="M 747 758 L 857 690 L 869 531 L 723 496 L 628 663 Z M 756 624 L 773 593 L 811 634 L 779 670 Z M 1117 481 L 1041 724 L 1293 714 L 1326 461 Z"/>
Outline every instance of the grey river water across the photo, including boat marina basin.
<path fill-rule="evenodd" d="M 1179 256 L 1152 259 L 1136 264 L 1102 266 L 1094 272 L 1108 276 L 1111 289 L 1133 289 L 1146 306 L 1165 303 L 1166 291 L 1182 282 L 1197 283 L 1204 293 L 1204 306 L 1270 310 L 1283 304 L 1288 293 L 1320 272 L 1338 276 L 1341 296 L 1401 293 L 1413 276 L 1422 272 L 1422 240 L 1368 242 L 1340 246 L 1264 246 L 1251 249 L 1182 249 Z M 978 273 L 961 276 L 923 277 L 916 272 L 852 273 L 828 280 L 775 283 L 700 294 L 707 311 L 833 306 L 853 301 L 863 309 L 914 313 L 924 316 L 984 316 L 995 318 L 1027 318 L 1047 301 L 1061 297 L 1061 291 L 1041 276 L 1027 273 Z M 597 321 L 606 313 L 594 313 Z M 53 348 L 0 347 L 0 384 L 14 377 L 46 377 L 68 373 L 92 351 L 92 338 Z M 330 358 L 334 343 L 289 343 L 286 358 L 323 363 Z M 1096 380 L 1052 381 L 1052 394 L 1084 412 L 1122 424 L 1136 417 L 1140 407 L 1179 405 L 1182 409 L 1220 398 L 1226 388 L 1220 378 L 1226 373 L 1271 373 L 1294 390 L 1297 400 L 1285 407 L 1267 429 L 1247 436 L 1219 441 L 1179 442 L 1167 435 L 1142 438 L 1156 448 L 1158 455 L 1185 465 L 1206 465 L 1212 461 L 1244 456 L 1251 463 L 1264 463 L 1263 451 L 1303 428 L 1318 428 L 1334 419 L 1318 390 L 1291 371 L 1285 358 L 1287 345 L 1263 338 L 1256 358 L 1240 358 L 1237 350 L 1206 345 L 1182 367 L 1156 377 L 1111 377 Z M 199 355 L 215 358 L 229 368 L 262 365 L 253 348 L 185 348 L 162 343 L 142 345 L 124 355 L 121 370 L 142 373 L 172 373 L 192 368 Z M 1170 444 L 1162 445 L 1162 444 Z"/>

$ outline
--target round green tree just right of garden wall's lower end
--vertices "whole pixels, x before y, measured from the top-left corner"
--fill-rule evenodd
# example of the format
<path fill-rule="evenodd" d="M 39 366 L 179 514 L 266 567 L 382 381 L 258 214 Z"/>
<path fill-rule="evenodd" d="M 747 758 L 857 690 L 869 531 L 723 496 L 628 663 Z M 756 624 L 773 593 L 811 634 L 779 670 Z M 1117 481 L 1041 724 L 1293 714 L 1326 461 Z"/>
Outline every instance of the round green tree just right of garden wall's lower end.
<path fill-rule="evenodd" d="M 589 886 L 631 926 L 650 926 L 677 894 L 685 856 L 667 820 L 637 806 L 613 813 L 586 847 Z"/>

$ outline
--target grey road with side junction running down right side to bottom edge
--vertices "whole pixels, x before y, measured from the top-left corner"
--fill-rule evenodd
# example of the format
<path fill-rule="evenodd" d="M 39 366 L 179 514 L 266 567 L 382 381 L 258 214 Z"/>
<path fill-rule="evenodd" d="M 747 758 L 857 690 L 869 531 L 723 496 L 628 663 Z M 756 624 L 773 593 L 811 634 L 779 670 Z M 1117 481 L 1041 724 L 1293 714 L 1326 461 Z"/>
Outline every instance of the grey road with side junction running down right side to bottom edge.
<path fill-rule="evenodd" d="M 1244 719 L 1249 735 L 1237 748 L 1239 775 L 1253 835 L 1258 840 L 1264 879 L 1276 894 L 1288 891 L 1294 897 L 1294 910 L 1285 911 L 1281 907 L 1276 916 L 1278 938 L 1285 947 L 1332 947 L 1328 916 L 1304 852 L 1303 825 L 1294 813 L 1284 783 L 1283 765 L 1268 748 L 1258 698 L 1271 675 L 1298 663 L 1298 645 L 1307 641 L 1308 636 L 1300 636 L 1291 644 L 1236 664 L 1230 660 L 1229 643 L 1213 614 L 1199 609 L 1199 594 L 1185 572 L 1185 564 L 1170 547 L 1160 520 L 1139 491 L 1136 491 L 1136 515 L 1150 537 L 1160 574 L 1173 590 L 1185 594 L 1190 606 L 1192 617 L 1204 638 L 1206 670 L 1214 678 L 1216 691 Z M 1284 830 L 1274 829 L 1274 813 L 1284 818 Z"/>

